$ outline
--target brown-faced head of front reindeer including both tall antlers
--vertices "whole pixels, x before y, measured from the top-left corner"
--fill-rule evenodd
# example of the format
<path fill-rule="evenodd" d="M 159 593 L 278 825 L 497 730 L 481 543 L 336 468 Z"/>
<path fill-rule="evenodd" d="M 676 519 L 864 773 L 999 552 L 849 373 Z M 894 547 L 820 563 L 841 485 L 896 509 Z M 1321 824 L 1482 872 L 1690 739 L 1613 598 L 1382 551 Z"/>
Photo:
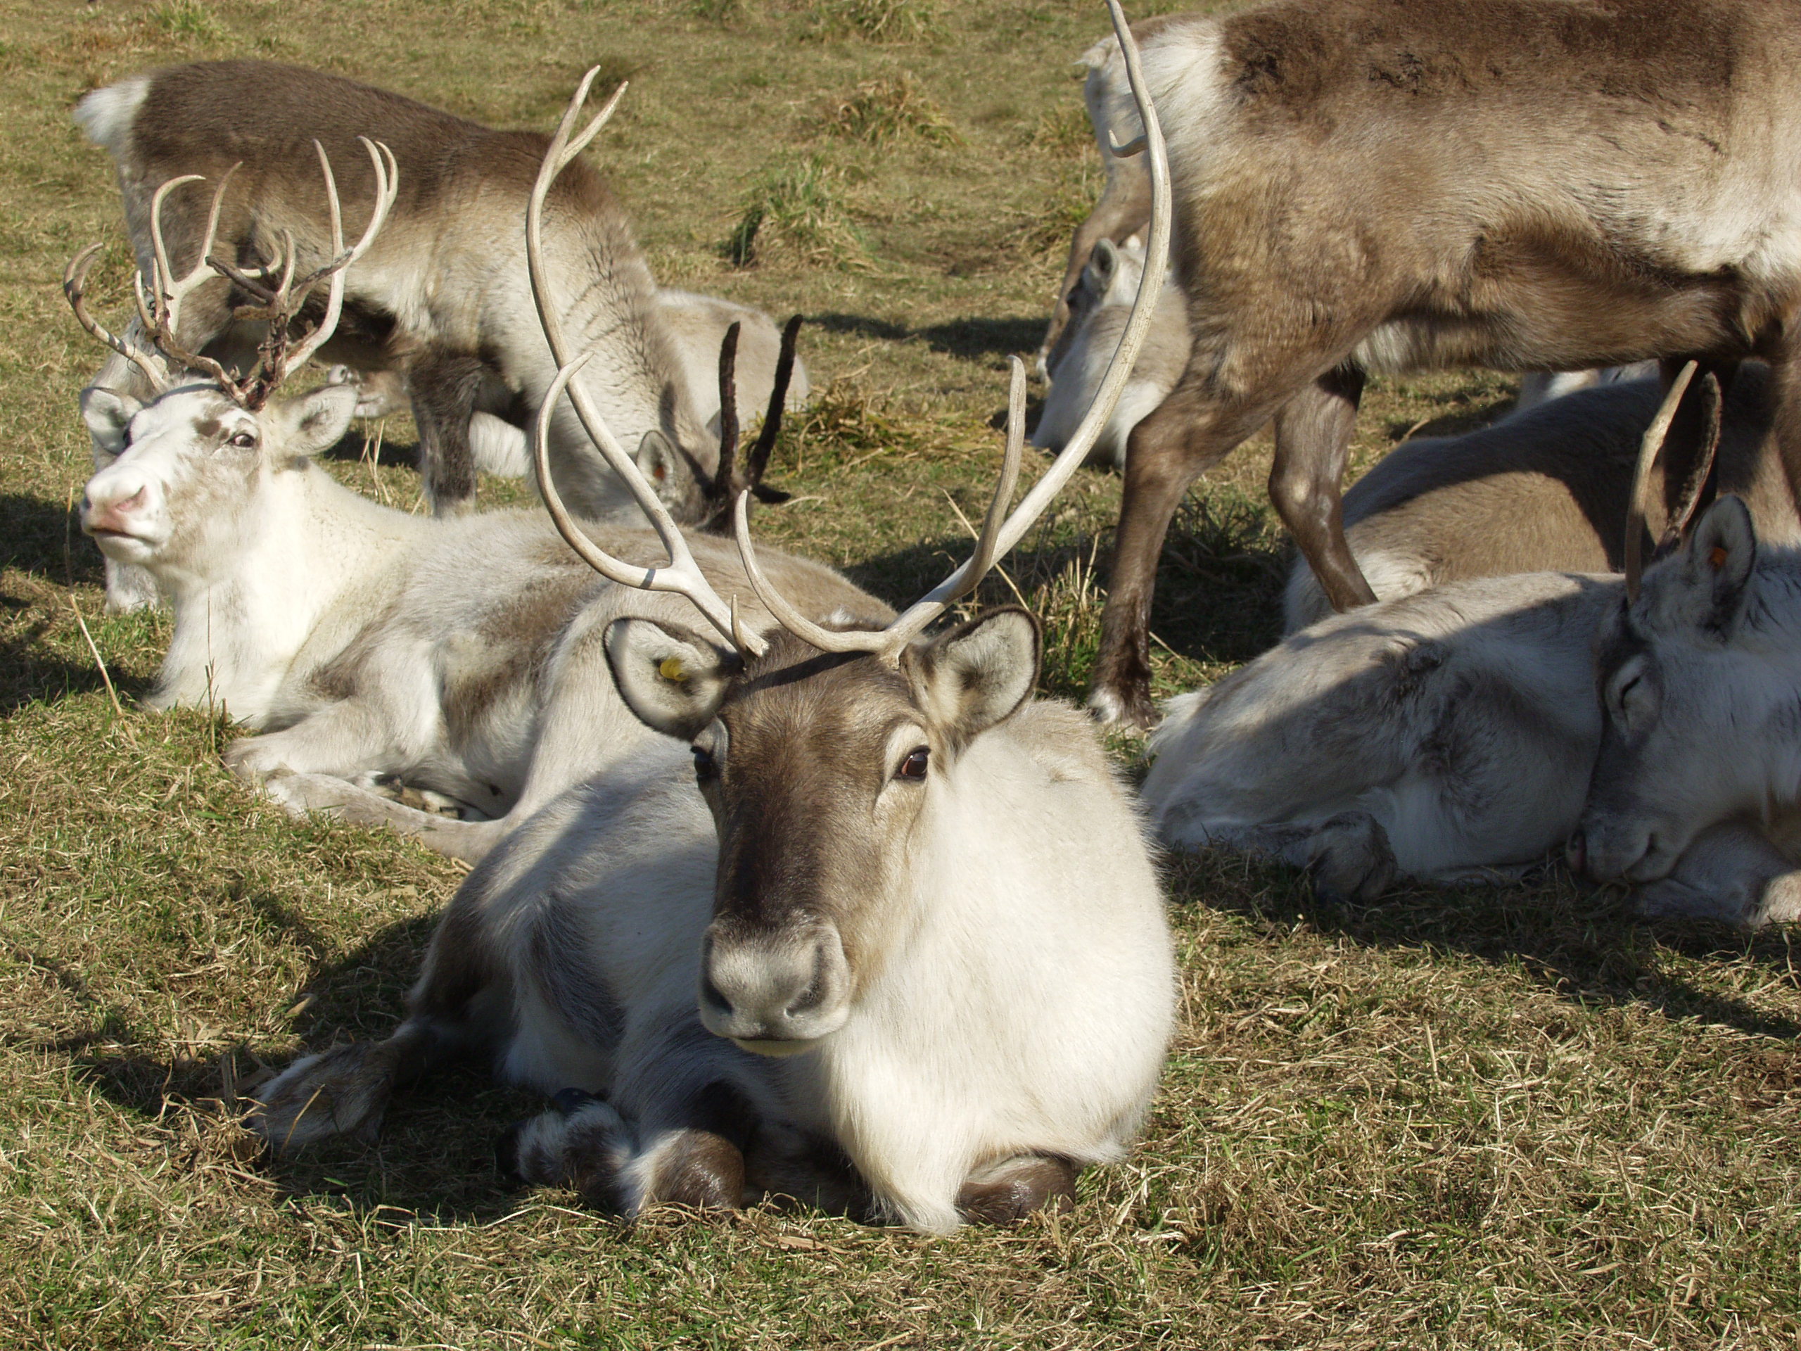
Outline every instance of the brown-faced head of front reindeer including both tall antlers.
<path fill-rule="evenodd" d="M 764 576 L 749 535 L 749 492 L 735 504 L 746 578 L 780 623 L 749 632 L 737 602 L 701 575 L 686 540 L 571 376 L 587 360 L 564 360 L 546 394 L 567 391 L 607 463 L 632 488 L 668 549 L 668 564 L 632 567 L 602 551 L 569 517 L 549 483 L 546 434 L 535 450 L 544 504 L 571 548 L 603 576 L 688 596 L 724 643 L 648 620 L 616 620 L 607 659 L 627 706 L 650 728 L 693 746 L 695 776 L 719 825 L 719 875 L 706 937 L 701 1018 L 713 1032 L 767 1054 L 807 1050 L 843 1027 L 857 996 L 882 967 L 917 895 L 900 877 L 933 832 L 956 830 L 955 803 L 976 784 L 973 748 L 1014 713 L 1037 679 L 1037 621 L 1003 609 L 937 638 L 922 632 L 976 589 L 1088 458 L 1118 402 L 1144 342 L 1169 258 L 1169 166 L 1156 112 L 1144 95 L 1138 49 L 1109 0 L 1151 151 L 1151 247 L 1133 317 L 1095 403 L 1045 476 L 1009 513 L 1025 445 L 1025 367 L 1012 362 L 1007 443 L 1000 485 L 973 555 L 886 629 L 836 618 L 819 623 L 794 609 Z M 589 81 L 593 72 L 589 74 Z M 576 92 L 540 173 L 537 200 L 575 153 L 569 131 L 587 95 Z M 618 97 L 618 95 L 614 95 Z M 593 135 L 612 104 L 584 133 Z M 528 254 L 546 331 L 558 306 L 542 249 L 528 225 Z M 557 349 L 558 339 L 551 337 Z M 729 402 L 724 403 L 729 407 Z M 942 888 L 955 877 L 935 879 Z"/>

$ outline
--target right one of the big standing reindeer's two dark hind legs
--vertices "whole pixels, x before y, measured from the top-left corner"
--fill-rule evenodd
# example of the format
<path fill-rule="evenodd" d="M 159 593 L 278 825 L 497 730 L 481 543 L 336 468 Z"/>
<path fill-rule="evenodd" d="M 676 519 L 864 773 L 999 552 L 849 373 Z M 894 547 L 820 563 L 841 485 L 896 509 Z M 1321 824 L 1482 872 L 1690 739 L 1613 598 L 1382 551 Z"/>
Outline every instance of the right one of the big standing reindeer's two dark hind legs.
<path fill-rule="evenodd" d="M 1340 494 L 1362 396 L 1363 373 L 1340 366 L 1302 389 L 1275 414 L 1270 501 L 1335 611 L 1376 600 L 1345 542 Z"/>

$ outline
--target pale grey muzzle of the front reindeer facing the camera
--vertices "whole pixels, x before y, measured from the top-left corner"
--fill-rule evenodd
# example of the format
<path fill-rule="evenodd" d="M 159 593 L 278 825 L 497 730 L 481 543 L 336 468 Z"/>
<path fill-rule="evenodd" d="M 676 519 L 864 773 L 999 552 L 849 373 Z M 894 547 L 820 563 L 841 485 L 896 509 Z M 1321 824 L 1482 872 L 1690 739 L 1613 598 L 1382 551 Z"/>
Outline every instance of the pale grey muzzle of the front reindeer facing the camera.
<path fill-rule="evenodd" d="M 701 1021 L 771 1056 L 807 1050 L 845 1025 L 850 967 L 837 929 L 812 924 L 767 935 L 708 931 Z"/>

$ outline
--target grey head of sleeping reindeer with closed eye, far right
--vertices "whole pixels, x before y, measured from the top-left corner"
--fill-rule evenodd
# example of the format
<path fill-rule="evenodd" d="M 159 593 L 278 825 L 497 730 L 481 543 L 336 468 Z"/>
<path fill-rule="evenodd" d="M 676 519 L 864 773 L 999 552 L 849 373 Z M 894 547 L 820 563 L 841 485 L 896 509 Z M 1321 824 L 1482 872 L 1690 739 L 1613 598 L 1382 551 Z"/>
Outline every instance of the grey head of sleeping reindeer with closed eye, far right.
<path fill-rule="evenodd" d="M 1601 753 L 1570 847 L 1590 875 L 1655 881 L 1700 830 L 1763 807 L 1797 690 L 1794 652 L 1760 634 L 1756 560 L 1751 512 L 1722 497 L 1603 623 Z"/>

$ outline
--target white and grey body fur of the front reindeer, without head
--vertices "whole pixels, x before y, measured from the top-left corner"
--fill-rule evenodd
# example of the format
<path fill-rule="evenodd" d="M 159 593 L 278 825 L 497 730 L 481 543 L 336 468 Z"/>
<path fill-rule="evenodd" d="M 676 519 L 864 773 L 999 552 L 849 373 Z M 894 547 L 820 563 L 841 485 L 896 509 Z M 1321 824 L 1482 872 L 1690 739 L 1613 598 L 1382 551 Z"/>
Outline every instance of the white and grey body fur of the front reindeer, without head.
<path fill-rule="evenodd" d="M 1059 749 L 1070 735 L 1090 744 Z M 1027 708 L 928 782 L 904 881 L 881 899 L 891 942 L 863 955 L 870 975 L 846 1021 L 800 1056 L 753 1056 L 701 1027 L 717 845 L 686 748 L 659 739 L 548 803 L 452 902 L 479 913 L 493 987 L 513 991 L 499 1074 L 611 1104 L 540 1117 L 522 1156 L 558 1156 L 571 1140 L 603 1149 L 620 1207 L 636 1212 L 681 1124 L 672 1113 L 724 1081 L 765 1133 L 834 1140 L 879 1209 L 928 1232 L 962 1223 L 958 1189 L 987 1165 L 1117 1158 L 1156 1086 L 1174 958 L 1140 821 L 1091 735 L 1066 710 Z M 418 1011 L 434 964 L 452 960 L 445 942 L 441 931 L 414 1021 L 378 1048 L 430 1021 Z M 620 1011 L 616 1039 L 585 1021 L 573 989 Z M 295 1122 L 339 1093 L 362 1097 L 301 1063 L 265 1090 L 258 1128 L 330 1135 L 328 1113 Z"/>

